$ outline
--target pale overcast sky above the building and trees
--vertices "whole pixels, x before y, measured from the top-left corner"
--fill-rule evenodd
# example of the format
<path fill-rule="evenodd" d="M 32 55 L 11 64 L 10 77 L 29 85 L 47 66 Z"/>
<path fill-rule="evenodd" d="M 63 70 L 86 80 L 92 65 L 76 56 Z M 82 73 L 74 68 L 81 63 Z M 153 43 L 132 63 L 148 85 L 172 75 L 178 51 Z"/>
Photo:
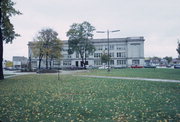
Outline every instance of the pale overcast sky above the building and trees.
<path fill-rule="evenodd" d="M 4 59 L 28 57 L 28 42 L 44 28 L 66 32 L 73 23 L 88 21 L 97 31 L 120 30 L 110 38 L 143 36 L 145 57 L 177 58 L 180 39 L 180 0 L 12 0 L 22 12 L 11 18 L 21 37 L 4 44 Z M 94 32 L 94 39 L 106 38 Z"/>

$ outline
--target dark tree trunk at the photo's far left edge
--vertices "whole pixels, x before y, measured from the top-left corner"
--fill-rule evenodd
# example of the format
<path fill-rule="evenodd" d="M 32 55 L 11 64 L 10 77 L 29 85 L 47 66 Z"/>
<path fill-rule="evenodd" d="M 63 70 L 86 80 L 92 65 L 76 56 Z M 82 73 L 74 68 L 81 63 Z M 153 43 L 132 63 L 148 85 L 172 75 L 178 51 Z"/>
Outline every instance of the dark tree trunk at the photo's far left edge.
<path fill-rule="evenodd" d="M 2 13 L 0 8 L 0 80 L 4 79 L 3 74 L 3 38 L 2 38 Z"/>

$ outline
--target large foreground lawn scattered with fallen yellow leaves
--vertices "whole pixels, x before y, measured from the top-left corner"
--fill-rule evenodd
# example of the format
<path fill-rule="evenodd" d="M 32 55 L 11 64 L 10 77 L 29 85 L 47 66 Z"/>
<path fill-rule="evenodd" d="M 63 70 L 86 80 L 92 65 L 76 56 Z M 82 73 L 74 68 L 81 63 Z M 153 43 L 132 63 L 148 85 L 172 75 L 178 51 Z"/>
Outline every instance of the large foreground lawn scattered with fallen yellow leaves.
<path fill-rule="evenodd" d="M 179 94 L 179 83 L 18 76 L 0 82 L 0 120 L 178 121 Z"/>

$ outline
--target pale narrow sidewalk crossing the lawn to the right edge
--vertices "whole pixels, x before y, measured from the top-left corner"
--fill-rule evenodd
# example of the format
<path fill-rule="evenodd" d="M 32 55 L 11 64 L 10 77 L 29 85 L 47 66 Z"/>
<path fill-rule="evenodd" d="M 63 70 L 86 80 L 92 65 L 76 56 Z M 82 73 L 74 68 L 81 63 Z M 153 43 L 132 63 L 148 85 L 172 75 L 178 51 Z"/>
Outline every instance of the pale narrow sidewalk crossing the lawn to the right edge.
<path fill-rule="evenodd" d="M 133 78 L 133 77 L 113 77 L 113 76 L 96 76 L 96 75 L 74 75 L 79 77 L 90 77 L 90 78 L 108 78 L 108 79 L 123 79 L 123 80 L 143 80 L 143 81 L 157 81 L 157 82 L 172 82 L 180 83 L 180 80 L 168 80 L 168 79 L 153 79 L 153 78 Z"/>

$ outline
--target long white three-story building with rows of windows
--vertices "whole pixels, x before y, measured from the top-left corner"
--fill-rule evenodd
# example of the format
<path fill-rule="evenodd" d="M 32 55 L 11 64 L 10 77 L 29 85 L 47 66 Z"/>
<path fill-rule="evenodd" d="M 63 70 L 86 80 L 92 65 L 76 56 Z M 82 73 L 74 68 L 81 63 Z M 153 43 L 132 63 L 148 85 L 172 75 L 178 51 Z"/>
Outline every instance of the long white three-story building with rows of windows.
<path fill-rule="evenodd" d="M 109 39 L 109 55 L 111 67 L 130 67 L 131 65 L 144 65 L 144 37 L 127 37 L 127 38 L 111 38 Z M 64 40 L 63 58 L 60 61 L 61 67 L 81 67 L 81 58 L 77 53 L 68 55 L 68 41 Z M 86 64 L 93 67 L 102 66 L 101 55 L 108 52 L 107 39 L 92 40 L 96 50 L 93 54 L 87 56 Z M 31 51 L 31 43 L 28 44 L 29 57 L 33 63 L 33 67 L 38 67 L 38 59 L 33 57 Z M 52 62 L 53 67 L 58 67 L 58 61 Z M 45 67 L 42 61 L 42 67 Z"/>

